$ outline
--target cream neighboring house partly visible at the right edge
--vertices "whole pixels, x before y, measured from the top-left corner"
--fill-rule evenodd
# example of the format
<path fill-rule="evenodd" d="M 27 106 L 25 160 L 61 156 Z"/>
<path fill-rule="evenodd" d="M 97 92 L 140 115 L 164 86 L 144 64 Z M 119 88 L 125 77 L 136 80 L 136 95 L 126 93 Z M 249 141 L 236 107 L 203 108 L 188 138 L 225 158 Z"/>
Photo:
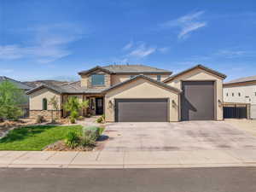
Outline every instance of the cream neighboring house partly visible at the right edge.
<path fill-rule="evenodd" d="M 250 103 L 250 117 L 256 119 L 256 76 L 225 83 L 224 102 Z"/>

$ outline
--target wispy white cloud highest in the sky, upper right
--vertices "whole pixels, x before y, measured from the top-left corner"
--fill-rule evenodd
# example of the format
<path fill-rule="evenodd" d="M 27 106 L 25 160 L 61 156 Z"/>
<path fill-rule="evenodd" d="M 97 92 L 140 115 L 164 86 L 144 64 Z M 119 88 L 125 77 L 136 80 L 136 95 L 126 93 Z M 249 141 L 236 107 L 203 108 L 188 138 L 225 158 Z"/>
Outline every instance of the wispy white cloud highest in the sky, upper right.
<path fill-rule="evenodd" d="M 160 26 L 162 28 L 172 28 L 179 27 L 181 31 L 178 33 L 177 38 L 188 38 L 189 33 L 193 32 L 203 26 L 207 26 L 206 21 L 201 21 L 201 15 L 204 14 L 204 11 L 198 11 L 194 14 L 183 15 L 176 20 L 169 20 Z"/>

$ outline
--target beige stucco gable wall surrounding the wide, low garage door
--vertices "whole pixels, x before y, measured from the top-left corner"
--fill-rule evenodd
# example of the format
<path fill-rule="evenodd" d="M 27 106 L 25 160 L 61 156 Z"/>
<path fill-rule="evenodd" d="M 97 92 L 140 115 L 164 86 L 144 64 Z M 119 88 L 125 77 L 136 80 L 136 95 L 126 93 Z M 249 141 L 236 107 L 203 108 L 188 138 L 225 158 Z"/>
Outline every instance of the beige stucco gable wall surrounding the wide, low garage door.
<path fill-rule="evenodd" d="M 105 96 L 105 115 L 108 122 L 114 121 L 114 105 L 112 106 L 110 101 L 114 103 L 114 99 L 118 98 L 167 98 L 169 99 L 169 120 L 179 120 L 179 94 L 173 90 L 154 84 L 147 79 L 137 79 L 108 91 Z"/>

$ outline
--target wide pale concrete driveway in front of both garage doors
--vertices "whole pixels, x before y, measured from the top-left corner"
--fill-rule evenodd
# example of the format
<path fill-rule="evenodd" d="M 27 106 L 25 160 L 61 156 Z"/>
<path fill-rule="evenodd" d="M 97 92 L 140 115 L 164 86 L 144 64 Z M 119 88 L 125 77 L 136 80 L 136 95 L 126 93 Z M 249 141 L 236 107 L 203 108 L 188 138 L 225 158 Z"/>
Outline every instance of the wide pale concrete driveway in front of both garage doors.
<path fill-rule="evenodd" d="M 256 149 L 256 137 L 224 121 L 108 124 L 103 151 Z"/>

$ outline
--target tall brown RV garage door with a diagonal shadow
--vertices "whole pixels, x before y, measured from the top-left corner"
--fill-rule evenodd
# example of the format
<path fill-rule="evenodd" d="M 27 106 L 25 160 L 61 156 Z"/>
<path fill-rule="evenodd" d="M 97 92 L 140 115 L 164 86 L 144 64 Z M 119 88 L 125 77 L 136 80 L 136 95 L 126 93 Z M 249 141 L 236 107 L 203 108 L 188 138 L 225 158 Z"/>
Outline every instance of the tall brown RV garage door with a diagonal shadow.
<path fill-rule="evenodd" d="M 214 82 L 184 81 L 182 88 L 182 120 L 213 120 Z"/>

